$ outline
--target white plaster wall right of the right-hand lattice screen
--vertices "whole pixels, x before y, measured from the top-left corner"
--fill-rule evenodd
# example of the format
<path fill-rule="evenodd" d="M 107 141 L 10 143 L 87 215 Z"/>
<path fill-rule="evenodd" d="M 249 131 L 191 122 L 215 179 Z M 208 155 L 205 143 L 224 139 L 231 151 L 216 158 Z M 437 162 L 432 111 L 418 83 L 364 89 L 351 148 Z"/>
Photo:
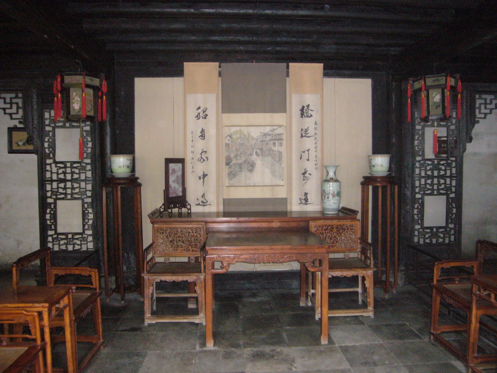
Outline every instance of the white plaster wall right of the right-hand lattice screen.
<path fill-rule="evenodd" d="M 473 129 L 463 166 L 462 254 L 475 255 L 475 242 L 497 242 L 497 109 Z"/>

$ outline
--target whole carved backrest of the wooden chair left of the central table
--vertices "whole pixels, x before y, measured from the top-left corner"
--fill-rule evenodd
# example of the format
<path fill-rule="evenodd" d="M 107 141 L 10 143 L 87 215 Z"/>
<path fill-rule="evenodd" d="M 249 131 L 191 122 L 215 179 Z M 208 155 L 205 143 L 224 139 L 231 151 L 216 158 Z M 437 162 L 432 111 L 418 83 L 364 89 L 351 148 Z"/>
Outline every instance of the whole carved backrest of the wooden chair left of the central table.
<path fill-rule="evenodd" d="M 206 234 L 203 223 L 155 223 L 153 228 L 152 258 L 147 263 L 150 267 L 156 258 L 188 258 L 194 262 L 202 261 L 202 248 L 205 245 Z"/>

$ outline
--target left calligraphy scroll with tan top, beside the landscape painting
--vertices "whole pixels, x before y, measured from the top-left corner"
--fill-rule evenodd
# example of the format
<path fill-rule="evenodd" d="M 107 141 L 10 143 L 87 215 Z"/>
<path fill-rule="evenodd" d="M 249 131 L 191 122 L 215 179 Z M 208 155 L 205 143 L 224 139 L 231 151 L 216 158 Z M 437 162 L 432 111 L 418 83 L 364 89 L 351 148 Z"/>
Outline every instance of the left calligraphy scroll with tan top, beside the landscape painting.
<path fill-rule="evenodd" d="M 219 64 L 185 63 L 186 193 L 192 211 L 217 211 Z"/>

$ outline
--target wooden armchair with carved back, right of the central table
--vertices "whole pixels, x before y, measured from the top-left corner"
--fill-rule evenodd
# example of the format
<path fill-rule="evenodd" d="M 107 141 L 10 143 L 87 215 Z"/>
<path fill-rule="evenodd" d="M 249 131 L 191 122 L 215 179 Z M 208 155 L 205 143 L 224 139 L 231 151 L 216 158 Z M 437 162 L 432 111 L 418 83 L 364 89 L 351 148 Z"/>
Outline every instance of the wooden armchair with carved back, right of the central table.
<path fill-rule="evenodd" d="M 357 291 L 359 303 L 366 308 L 330 309 L 328 316 L 366 315 L 374 317 L 372 246 L 359 238 L 359 219 L 311 221 L 311 232 L 317 234 L 329 245 L 329 278 L 358 277 L 357 287 L 330 287 L 330 292 Z M 308 287 L 308 304 L 314 304 L 316 319 L 321 317 L 321 277 L 319 273 L 305 275 L 301 266 L 301 294 Z"/>

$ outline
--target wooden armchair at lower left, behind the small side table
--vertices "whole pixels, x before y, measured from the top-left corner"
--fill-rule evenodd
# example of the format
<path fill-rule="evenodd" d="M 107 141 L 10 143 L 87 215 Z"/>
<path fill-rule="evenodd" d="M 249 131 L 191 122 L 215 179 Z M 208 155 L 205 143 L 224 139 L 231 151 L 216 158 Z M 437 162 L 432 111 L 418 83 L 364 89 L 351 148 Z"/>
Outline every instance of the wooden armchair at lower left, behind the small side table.
<path fill-rule="evenodd" d="M 87 267 L 52 267 L 50 261 L 50 248 L 43 248 L 19 258 L 12 264 L 12 286 L 19 284 L 20 270 L 34 261 L 45 262 L 47 285 L 63 283 L 73 285 L 70 297 L 71 324 L 76 342 L 92 343 L 93 346 L 86 353 L 81 363 L 78 363 L 78 351 L 73 352 L 76 360 L 76 371 L 82 372 L 93 356 L 103 349 L 102 315 L 100 308 L 100 284 L 98 271 Z M 41 263 L 41 262 L 40 262 Z M 76 333 L 76 324 L 91 311 L 93 317 L 93 334 Z M 50 321 L 50 327 L 64 327 L 62 315 Z M 53 343 L 64 342 L 63 334 L 54 335 Z M 76 345 L 76 344 L 75 344 Z M 76 346 L 75 346 L 76 347 Z"/>

